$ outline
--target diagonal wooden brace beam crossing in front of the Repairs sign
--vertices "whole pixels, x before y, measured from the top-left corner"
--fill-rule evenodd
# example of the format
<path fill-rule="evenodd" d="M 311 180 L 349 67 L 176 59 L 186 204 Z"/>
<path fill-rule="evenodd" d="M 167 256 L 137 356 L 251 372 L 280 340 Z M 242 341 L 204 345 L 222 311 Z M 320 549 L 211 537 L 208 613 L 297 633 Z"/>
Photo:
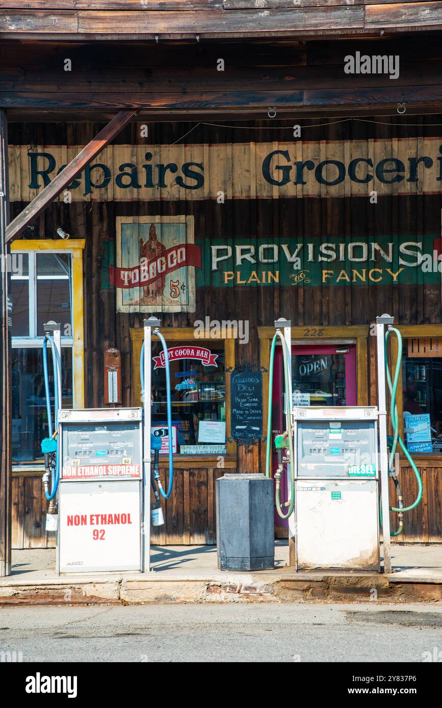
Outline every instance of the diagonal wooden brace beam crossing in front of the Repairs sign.
<path fill-rule="evenodd" d="M 26 229 L 28 224 L 35 221 L 46 207 L 57 198 L 60 192 L 77 177 L 81 170 L 123 130 L 125 125 L 128 125 L 128 122 L 135 117 L 136 113 L 137 110 L 121 110 L 120 113 L 115 115 L 115 118 L 6 227 L 6 243 L 18 236 L 23 229 Z"/>

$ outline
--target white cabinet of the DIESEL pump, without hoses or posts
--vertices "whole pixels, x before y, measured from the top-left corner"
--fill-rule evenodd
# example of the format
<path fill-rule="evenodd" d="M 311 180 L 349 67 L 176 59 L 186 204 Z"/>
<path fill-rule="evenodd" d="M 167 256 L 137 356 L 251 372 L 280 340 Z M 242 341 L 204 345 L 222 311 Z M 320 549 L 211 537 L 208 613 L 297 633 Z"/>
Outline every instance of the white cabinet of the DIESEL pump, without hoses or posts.
<path fill-rule="evenodd" d="M 380 571 L 378 409 L 293 409 L 295 569 Z"/>

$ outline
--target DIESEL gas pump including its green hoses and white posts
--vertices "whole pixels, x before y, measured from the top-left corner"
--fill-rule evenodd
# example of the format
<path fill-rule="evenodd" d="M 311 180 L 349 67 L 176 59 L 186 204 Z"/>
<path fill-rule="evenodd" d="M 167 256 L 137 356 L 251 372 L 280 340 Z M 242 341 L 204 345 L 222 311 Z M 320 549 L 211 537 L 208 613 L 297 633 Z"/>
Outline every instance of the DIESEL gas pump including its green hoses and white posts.
<path fill-rule="evenodd" d="M 283 348 L 285 421 L 287 430 L 277 435 L 278 451 L 275 505 L 288 518 L 290 565 L 295 569 L 354 569 L 380 571 L 380 528 L 383 537 L 383 570 L 391 572 L 390 535 L 402 531 L 403 514 L 419 504 L 422 483 L 419 471 L 399 435 L 396 391 L 402 362 L 402 338 L 390 315 L 376 318 L 378 353 L 378 406 L 297 406 L 292 403 L 290 322 L 275 322 L 271 346 L 268 397 L 266 475 L 271 469 L 271 416 L 273 358 L 276 343 Z M 385 331 L 385 327 L 387 330 Z M 283 329 L 283 331 L 281 331 Z M 390 336 L 398 341 L 394 375 L 390 374 L 386 347 Z M 390 389 L 387 437 L 386 385 Z M 404 506 L 395 474 L 397 444 L 411 464 L 418 494 Z M 284 464 L 288 501 L 280 502 Z M 388 478 L 397 490 L 397 506 L 390 506 Z M 399 515 L 399 527 L 390 533 L 390 510 Z"/>

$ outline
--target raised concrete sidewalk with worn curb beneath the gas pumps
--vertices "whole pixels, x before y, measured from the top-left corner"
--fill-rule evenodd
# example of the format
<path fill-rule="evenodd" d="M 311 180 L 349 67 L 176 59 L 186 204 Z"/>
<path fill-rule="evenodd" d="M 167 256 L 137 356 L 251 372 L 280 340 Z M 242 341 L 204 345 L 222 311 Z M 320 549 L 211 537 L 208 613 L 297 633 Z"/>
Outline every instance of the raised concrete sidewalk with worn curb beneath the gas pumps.
<path fill-rule="evenodd" d="M 442 600 L 442 545 L 393 545 L 389 575 L 302 571 L 288 567 L 288 543 L 277 541 L 271 571 L 217 569 L 214 546 L 157 546 L 154 572 L 57 576 L 55 549 L 13 551 L 13 572 L 0 578 L 0 605 L 149 602 L 283 602 L 370 598 L 388 602 Z"/>

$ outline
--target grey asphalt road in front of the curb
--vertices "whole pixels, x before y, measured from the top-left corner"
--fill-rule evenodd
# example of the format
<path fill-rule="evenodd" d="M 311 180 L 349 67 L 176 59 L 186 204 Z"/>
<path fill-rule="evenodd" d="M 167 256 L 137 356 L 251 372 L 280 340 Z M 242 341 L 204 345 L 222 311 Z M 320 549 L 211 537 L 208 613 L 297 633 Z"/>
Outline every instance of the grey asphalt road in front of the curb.
<path fill-rule="evenodd" d="M 442 605 L 144 605 L 0 609 L 21 661 L 442 661 Z"/>

